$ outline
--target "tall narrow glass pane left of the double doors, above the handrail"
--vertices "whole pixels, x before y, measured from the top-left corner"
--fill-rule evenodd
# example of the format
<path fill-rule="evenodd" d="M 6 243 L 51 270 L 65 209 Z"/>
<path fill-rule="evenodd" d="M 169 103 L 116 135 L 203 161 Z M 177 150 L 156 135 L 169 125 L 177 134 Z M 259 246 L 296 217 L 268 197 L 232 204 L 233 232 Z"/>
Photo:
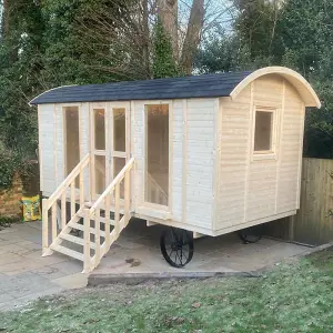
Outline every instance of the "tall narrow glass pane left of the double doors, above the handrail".
<path fill-rule="evenodd" d="M 67 175 L 80 162 L 79 108 L 64 108 Z"/>

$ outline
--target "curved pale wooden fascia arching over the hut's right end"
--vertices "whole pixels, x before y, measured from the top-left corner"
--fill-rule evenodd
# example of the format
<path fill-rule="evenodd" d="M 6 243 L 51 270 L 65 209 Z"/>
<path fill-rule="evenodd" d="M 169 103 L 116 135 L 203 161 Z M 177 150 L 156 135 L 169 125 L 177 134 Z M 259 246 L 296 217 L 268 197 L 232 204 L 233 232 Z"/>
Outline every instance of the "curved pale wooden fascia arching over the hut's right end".
<path fill-rule="evenodd" d="M 233 89 L 231 99 L 234 100 L 251 82 L 268 74 L 280 74 L 286 79 L 297 90 L 305 107 L 321 108 L 322 103 L 312 85 L 300 73 L 285 67 L 265 67 L 254 71 Z"/>

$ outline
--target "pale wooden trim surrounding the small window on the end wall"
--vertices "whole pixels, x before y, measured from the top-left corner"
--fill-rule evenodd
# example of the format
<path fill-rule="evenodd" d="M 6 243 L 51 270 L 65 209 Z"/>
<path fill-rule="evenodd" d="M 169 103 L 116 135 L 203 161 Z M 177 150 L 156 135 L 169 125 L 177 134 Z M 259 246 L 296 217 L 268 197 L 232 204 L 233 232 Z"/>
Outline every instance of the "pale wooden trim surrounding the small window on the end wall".
<path fill-rule="evenodd" d="M 254 105 L 254 117 L 252 123 L 252 149 L 251 149 L 251 161 L 259 161 L 259 160 L 278 160 L 278 129 L 279 129 L 279 121 L 278 121 L 278 108 L 272 107 L 260 107 Z M 272 132 L 271 132 L 271 150 L 262 150 L 255 151 L 254 150 L 254 138 L 255 138 L 255 119 L 256 112 L 271 112 L 273 113 L 272 118 Z"/>

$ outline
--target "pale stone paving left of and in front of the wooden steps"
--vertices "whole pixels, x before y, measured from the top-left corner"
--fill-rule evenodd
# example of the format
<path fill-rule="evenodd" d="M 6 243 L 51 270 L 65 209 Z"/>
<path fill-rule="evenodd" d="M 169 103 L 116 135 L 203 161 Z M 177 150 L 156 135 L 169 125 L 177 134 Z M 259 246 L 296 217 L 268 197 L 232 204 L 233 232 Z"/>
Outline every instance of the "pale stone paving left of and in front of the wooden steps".
<path fill-rule="evenodd" d="M 82 263 L 62 254 L 41 258 L 41 222 L 0 231 L 0 311 L 38 296 L 87 285 Z"/>

